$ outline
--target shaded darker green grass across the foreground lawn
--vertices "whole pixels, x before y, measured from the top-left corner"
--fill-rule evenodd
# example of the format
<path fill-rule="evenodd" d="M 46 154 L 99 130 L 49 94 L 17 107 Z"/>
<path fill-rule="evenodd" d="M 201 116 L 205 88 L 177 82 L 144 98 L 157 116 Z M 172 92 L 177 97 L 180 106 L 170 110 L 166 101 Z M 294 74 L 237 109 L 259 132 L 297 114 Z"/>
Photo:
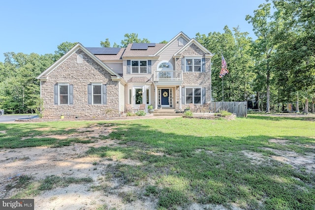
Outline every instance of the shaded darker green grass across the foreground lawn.
<path fill-rule="evenodd" d="M 311 210 L 315 207 L 314 174 L 273 160 L 269 157 L 275 153 L 262 149 L 292 150 L 291 146 L 268 141 L 277 137 L 198 137 L 164 133 L 136 123 L 120 124 L 109 137 L 121 140 L 121 146 L 91 148 L 88 154 L 111 158 L 109 151 L 119 151 L 123 158 L 140 161 L 142 165 L 138 166 L 111 166 L 111 174 L 125 184 L 151 184 L 156 190 L 146 191 L 145 195 L 156 197 L 159 208 L 185 209 L 191 203 L 226 207 L 234 203 L 243 209 Z M 296 143 L 301 153 L 310 152 L 294 140 L 300 137 L 283 138 Z M 314 146 L 314 139 L 301 141 Z M 244 155 L 251 151 L 261 154 L 259 162 L 253 164 Z"/>

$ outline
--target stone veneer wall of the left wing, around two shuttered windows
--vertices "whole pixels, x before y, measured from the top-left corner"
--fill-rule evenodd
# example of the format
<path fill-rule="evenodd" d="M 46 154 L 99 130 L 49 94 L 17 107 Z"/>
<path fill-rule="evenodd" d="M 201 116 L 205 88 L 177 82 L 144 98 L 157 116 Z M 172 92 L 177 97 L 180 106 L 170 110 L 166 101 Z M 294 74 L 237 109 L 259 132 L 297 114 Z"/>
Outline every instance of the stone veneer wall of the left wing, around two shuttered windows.
<path fill-rule="evenodd" d="M 77 56 L 83 63 L 77 63 Z M 54 105 L 54 85 L 67 82 L 73 85 L 73 105 Z M 88 84 L 97 82 L 107 85 L 105 105 L 88 104 Z M 119 115 L 118 81 L 81 49 L 52 71 L 47 81 L 41 81 L 41 96 L 44 100 L 44 118 L 106 118 Z"/>

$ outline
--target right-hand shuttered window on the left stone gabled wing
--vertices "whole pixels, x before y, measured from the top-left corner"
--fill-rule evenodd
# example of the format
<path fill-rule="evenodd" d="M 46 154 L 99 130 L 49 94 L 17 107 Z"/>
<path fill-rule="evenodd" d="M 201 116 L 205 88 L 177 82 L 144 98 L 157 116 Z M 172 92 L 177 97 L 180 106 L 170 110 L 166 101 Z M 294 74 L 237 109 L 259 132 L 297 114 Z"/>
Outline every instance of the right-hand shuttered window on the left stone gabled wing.
<path fill-rule="evenodd" d="M 103 84 L 88 85 L 88 104 L 106 104 L 107 89 Z"/>

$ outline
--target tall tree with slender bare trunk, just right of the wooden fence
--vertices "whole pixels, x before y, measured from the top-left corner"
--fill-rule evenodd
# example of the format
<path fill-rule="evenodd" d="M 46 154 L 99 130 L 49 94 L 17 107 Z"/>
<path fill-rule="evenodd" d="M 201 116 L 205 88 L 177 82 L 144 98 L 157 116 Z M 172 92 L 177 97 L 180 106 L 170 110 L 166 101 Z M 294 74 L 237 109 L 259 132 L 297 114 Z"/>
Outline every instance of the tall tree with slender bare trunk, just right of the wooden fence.
<path fill-rule="evenodd" d="M 247 15 L 246 20 L 252 23 L 253 31 L 258 37 L 254 44 L 254 56 L 256 58 L 256 69 L 262 71 L 266 76 L 266 112 L 270 113 L 270 81 L 273 68 L 270 64 L 271 57 L 275 52 L 273 42 L 274 31 L 277 23 L 272 21 L 270 13 L 271 5 L 260 4 L 257 10 L 254 10 L 254 16 Z"/>

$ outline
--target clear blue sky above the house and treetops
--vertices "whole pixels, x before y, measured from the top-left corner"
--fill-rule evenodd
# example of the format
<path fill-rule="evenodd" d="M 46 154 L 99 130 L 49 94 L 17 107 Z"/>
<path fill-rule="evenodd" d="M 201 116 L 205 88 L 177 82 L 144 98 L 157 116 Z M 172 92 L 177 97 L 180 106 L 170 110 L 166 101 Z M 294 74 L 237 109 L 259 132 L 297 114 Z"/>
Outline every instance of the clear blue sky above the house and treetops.
<path fill-rule="evenodd" d="M 245 17 L 265 0 L 4 0 L 0 5 L 3 53 L 54 53 L 65 41 L 100 47 L 121 44 L 126 33 L 151 42 L 169 41 L 180 31 L 222 32 L 225 25 L 252 32 Z"/>

